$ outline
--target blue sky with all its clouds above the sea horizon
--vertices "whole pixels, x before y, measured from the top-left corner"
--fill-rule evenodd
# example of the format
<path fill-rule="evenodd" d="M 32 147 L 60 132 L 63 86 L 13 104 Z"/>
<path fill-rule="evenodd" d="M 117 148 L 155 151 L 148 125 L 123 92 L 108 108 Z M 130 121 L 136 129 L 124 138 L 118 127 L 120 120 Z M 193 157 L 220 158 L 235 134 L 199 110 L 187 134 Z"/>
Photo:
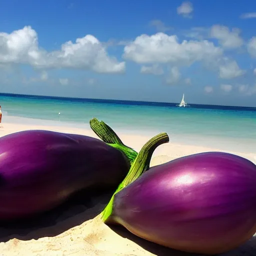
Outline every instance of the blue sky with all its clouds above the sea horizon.
<path fill-rule="evenodd" d="M 255 0 L 0 1 L 0 92 L 256 107 Z"/>

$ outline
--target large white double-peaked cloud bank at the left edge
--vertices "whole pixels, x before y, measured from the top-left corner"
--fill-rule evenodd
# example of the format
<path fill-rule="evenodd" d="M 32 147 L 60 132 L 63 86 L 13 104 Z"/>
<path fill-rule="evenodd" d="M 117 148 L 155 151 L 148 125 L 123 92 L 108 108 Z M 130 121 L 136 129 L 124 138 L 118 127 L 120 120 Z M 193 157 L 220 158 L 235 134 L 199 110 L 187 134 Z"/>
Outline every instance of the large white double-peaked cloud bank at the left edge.
<path fill-rule="evenodd" d="M 75 42 L 63 43 L 59 50 L 46 51 L 38 46 L 37 33 L 30 26 L 0 32 L 0 63 L 30 64 L 36 68 L 79 68 L 101 73 L 120 73 L 125 62 L 108 56 L 105 47 L 87 34 Z"/>

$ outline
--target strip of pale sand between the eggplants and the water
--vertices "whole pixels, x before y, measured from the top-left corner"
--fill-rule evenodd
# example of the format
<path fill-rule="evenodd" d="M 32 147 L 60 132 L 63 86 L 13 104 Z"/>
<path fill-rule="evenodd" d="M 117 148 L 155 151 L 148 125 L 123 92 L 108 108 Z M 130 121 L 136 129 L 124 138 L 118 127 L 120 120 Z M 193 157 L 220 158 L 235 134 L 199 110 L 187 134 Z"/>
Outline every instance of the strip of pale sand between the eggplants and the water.
<path fill-rule="evenodd" d="M 27 130 L 27 129 L 47 129 L 57 132 L 64 132 L 64 133 L 76 133 L 76 134 L 82 134 L 82 135 L 88 135 L 91 137 L 98 138 L 97 135 L 91 130 L 89 127 L 89 124 L 84 124 L 85 128 L 81 127 L 73 127 L 70 125 L 65 125 L 66 123 L 61 123 L 60 125 L 56 125 L 57 121 L 44 121 L 41 119 L 38 119 L 39 121 L 42 121 L 44 124 L 38 124 L 34 123 L 32 124 L 33 119 L 27 118 L 30 121 L 30 124 L 22 124 L 22 123 L 14 123 L 14 122 L 2 122 L 1 125 L 3 126 L 0 128 L 0 137 L 3 135 L 7 135 L 13 132 Z M 49 125 L 50 123 L 50 125 Z M 53 124 L 53 125 L 52 125 Z M 55 124 L 55 125 L 54 125 Z M 86 127 L 87 126 L 87 127 Z M 110 126 L 116 131 L 118 136 L 121 138 L 124 144 L 127 146 L 132 147 L 136 151 L 139 151 L 140 148 L 144 145 L 144 143 L 147 142 L 148 139 L 150 139 L 152 136 L 156 135 L 161 131 L 153 132 L 148 131 L 145 134 L 136 133 L 133 131 L 125 132 L 122 129 L 115 128 L 114 125 Z M 135 133 L 135 134 L 134 134 Z M 178 158 L 184 155 L 193 154 L 193 153 L 199 153 L 199 152 L 205 152 L 205 151 L 221 151 L 221 152 L 229 152 L 233 154 L 240 155 L 244 158 L 247 158 L 251 160 L 252 162 L 256 163 L 256 154 L 252 151 L 243 152 L 239 150 L 230 150 L 230 149 L 223 149 L 218 148 L 214 146 L 204 146 L 204 145 L 195 145 L 191 141 L 188 143 L 184 143 L 181 141 L 180 143 L 172 142 L 172 135 L 168 134 L 170 141 L 168 143 L 162 144 L 159 147 L 156 148 L 156 150 L 153 153 L 152 156 L 152 163 L 153 165 L 155 162 L 160 161 L 160 163 L 168 160 L 172 160 L 174 158 Z M 183 142 L 183 143 L 182 143 Z M 157 159 L 155 159 L 155 157 Z"/>

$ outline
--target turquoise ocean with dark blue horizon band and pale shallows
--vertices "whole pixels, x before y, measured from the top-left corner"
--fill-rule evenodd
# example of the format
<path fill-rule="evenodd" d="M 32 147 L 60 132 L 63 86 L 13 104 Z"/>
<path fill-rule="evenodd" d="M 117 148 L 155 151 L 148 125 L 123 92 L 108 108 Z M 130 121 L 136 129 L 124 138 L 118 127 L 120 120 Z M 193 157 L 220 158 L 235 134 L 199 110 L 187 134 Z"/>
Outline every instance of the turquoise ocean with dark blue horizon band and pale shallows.
<path fill-rule="evenodd" d="M 256 108 L 105 99 L 0 94 L 2 122 L 89 128 L 89 119 L 104 120 L 114 130 L 155 135 L 170 142 L 223 150 L 256 152 Z M 60 116 L 59 113 L 60 112 Z"/>

